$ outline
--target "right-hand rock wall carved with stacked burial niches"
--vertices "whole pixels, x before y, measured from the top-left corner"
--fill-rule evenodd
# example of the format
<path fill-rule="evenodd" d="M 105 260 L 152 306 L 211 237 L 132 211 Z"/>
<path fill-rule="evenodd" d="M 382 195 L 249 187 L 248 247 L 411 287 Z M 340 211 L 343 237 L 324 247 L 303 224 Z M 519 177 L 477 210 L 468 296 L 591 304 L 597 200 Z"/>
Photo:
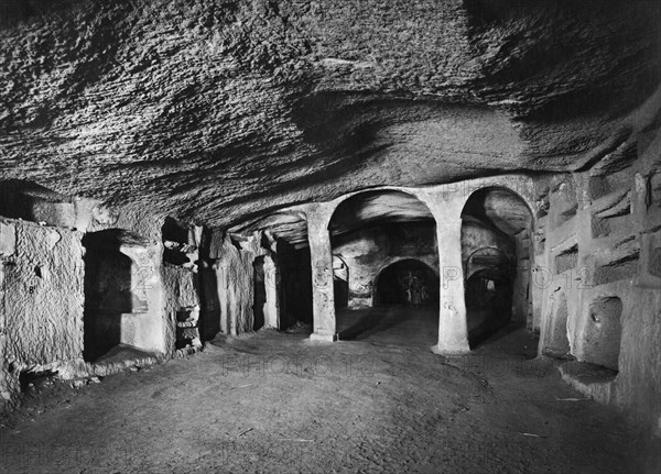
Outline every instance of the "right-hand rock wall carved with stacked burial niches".
<path fill-rule="evenodd" d="M 576 386 L 661 432 L 661 134 L 641 134 L 625 163 L 541 187 L 540 353 L 607 367 L 610 378 Z"/>

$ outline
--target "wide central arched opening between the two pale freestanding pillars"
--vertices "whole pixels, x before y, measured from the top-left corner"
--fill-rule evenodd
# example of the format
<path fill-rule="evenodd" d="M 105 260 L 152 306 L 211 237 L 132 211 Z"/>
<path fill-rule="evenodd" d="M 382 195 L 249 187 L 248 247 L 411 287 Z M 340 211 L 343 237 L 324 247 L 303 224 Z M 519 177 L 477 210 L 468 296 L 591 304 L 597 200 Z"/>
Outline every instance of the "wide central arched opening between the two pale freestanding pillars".
<path fill-rule="evenodd" d="M 427 206 L 401 190 L 360 192 L 336 208 L 328 232 L 339 339 L 429 332 L 433 344 L 438 331 L 438 246 Z M 340 262 L 346 286 L 338 282 Z M 426 329 L 409 330 L 420 320 Z"/>

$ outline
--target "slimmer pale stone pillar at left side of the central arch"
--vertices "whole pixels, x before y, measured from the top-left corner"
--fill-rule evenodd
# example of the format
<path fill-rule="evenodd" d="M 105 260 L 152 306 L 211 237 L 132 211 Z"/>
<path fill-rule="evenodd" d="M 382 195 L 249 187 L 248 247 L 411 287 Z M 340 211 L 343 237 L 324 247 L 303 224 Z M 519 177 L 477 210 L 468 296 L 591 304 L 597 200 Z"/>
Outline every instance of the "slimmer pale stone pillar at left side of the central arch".
<path fill-rule="evenodd" d="M 312 264 L 313 341 L 335 341 L 335 298 L 333 294 L 333 254 L 330 249 L 332 207 L 311 205 L 307 210 L 307 241 Z"/>

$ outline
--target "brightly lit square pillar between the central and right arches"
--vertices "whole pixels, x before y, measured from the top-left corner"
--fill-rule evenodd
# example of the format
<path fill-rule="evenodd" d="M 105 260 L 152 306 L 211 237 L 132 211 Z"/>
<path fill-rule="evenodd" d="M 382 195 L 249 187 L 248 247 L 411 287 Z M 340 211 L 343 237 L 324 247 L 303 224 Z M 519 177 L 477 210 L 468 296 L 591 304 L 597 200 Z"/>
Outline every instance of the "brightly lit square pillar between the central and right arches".
<path fill-rule="evenodd" d="M 432 351 L 436 354 L 464 354 L 470 349 L 464 296 L 462 219 L 434 217 L 436 218 L 436 238 L 438 240 L 441 308 L 438 343 L 432 346 Z"/>

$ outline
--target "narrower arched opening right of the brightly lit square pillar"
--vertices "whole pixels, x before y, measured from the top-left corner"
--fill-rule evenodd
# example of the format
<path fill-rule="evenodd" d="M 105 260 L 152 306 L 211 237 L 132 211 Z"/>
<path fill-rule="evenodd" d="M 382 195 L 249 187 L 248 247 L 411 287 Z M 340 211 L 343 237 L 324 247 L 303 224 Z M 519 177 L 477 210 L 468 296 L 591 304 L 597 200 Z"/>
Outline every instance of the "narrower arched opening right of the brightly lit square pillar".
<path fill-rule="evenodd" d="M 462 212 L 462 261 L 472 346 L 532 320 L 532 212 L 503 187 L 475 191 Z"/>

